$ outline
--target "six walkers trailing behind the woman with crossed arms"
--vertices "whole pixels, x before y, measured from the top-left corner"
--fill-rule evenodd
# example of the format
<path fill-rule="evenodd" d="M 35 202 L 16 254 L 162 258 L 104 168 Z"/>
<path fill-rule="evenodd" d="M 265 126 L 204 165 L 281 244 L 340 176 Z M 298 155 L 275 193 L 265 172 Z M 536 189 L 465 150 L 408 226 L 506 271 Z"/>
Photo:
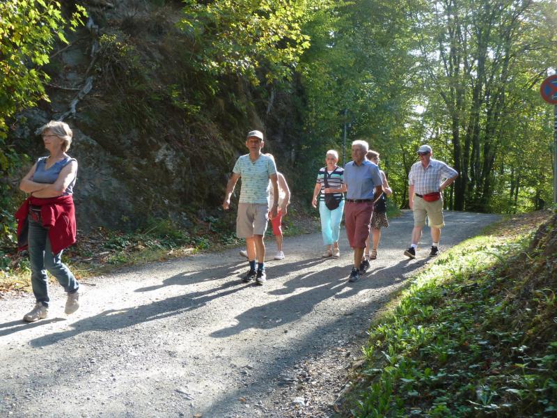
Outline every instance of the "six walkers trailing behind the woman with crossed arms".
<path fill-rule="evenodd" d="M 225 210 L 230 208 L 230 196 L 237 180 L 242 178 L 236 235 L 246 240 L 246 251 L 240 251 L 240 254 L 248 258 L 249 270 L 243 281 L 249 283 L 255 280 L 259 285 L 264 284 L 267 277 L 263 237 L 268 219 L 272 219 L 274 235 L 277 237 L 276 230 L 280 231 L 281 217 L 278 217 L 278 222 L 275 219 L 278 213 L 286 213 L 286 207 L 290 203 L 290 189 L 284 176 L 276 170 L 272 155 L 262 153 L 264 146 L 262 132 L 254 130 L 247 134 L 246 147 L 249 154 L 238 158 L 226 186 L 222 205 Z M 439 254 L 441 228 L 445 225 L 441 192 L 458 176 L 455 169 L 432 158 L 432 148 L 429 145 L 420 146 L 417 153 L 419 161 L 412 165 L 408 176 L 409 205 L 414 212 L 411 245 L 404 251 L 409 258 L 416 258 L 416 248 L 426 217 L 432 235 L 430 256 Z M 325 246 L 322 256 L 340 257 L 338 239 L 344 213 L 348 242 L 354 251 L 354 265 L 348 280 L 358 281 L 360 275 L 370 268 L 370 260 L 377 258 L 381 230 L 389 226 L 386 196 L 390 196 L 393 190 L 384 171 L 379 169 L 379 153 L 369 150 L 366 141 L 352 142 L 352 161 L 345 164 L 344 168 L 338 166 L 336 150 L 327 151 L 325 164 L 327 165 L 317 173 L 312 199 L 313 207 L 319 208 L 320 212 Z M 281 181 L 278 181 L 279 176 L 282 177 Z M 280 183 L 286 186 L 281 186 Z M 278 196 L 284 188 L 288 190 L 288 199 L 281 201 Z M 281 260 L 284 258 L 282 231 L 279 236 L 280 246 L 275 259 Z M 279 239 L 276 239 L 279 245 Z"/>

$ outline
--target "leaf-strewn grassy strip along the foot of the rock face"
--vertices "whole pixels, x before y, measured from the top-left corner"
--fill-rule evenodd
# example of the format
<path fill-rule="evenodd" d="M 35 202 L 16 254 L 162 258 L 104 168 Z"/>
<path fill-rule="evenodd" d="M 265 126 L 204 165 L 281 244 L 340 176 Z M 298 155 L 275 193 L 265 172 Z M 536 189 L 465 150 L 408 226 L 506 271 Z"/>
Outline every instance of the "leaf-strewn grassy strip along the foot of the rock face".
<path fill-rule="evenodd" d="M 317 231 L 318 224 L 303 212 L 292 210 L 283 222 L 283 235 L 293 236 Z M 271 234 L 267 245 L 274 248 Z M 136 232 L 112 231 L 97 228 L 78 235 L 77 242 L 65 249 L 62 261 L 77 279 L 88 279 L 107 274 L 131 265 L 191 256 L 201 252 L 222 251 L 239 247 L 244 240 L 236 238 L 223 219 L 205 217 L 194 228 L 179 229 L 168 220 L 153 219 L 145 228 Z M 0 297 L 7 292 L 31 292 L 31 270 L 26 251 L 1 253 Z M 52 283 L 54 277 L 49 277 Z"/>

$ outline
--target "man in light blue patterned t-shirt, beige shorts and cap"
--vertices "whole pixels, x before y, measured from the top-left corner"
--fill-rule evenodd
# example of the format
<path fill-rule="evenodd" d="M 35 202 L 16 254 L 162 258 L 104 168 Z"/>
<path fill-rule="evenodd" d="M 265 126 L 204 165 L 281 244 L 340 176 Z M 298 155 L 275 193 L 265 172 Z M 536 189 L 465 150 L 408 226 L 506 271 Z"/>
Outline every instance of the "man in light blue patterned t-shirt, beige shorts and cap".
<path fill-rule="evenodd" d="M 240 188 L 240 201 L 236 217 L 236 235 L 245 238 L 248 253 L 249 271 L 244 277 L 244 283 L 256 279 L 256 284 L 262 285 L 267 277 L 265 273 L 265 243 L 263 236 L 267 230 L 269 213 L 271 218 L 276 217 L 278 210 L 278 183 L 274 159 L 261 152 L 265 146 L 263 133 L 253 130 L 247 134 L 246 147 L 249 154 L 242 155 L 236 161 L 232 177 L 226 185 L 226 195 L 222 207 L 230 208 L 230 196 L 239 178 L 242 178 Z M 269 210 L 267 201 L 267 187 L 271 179 L 274 190 L 274 201 Z M 256 270 L 256 258 L 258 268 Z"/>

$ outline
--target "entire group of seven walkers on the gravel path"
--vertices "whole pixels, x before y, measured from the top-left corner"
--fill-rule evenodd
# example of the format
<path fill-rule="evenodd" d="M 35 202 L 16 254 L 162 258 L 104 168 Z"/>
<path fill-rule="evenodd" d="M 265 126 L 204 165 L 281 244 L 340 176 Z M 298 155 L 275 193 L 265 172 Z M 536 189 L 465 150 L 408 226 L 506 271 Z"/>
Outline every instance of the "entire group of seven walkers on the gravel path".
<path fill-rule="evenodd" d="M 67 293 L 65 313 L 73 314 L 79 309 L 79 283 L 62 262 L 62 251 L 75 242 L 77 231 L 72 199 L 77 161 L 67 153 L 72 144 L 72 130 L 67 123 L 50 121 L 40 128 L 40 132 L 49 155 L 38 158 L 19 183 L 19 189 L 29 197 L 15 214 L 17 244 L 20 250 L 29 249 L 31 286 L 36 299 L 33 309 L 24 315 L 27 322 L 48 316 L 50 299 L 46 270 L 56 277 Z M 262 132 L 253 130 L 247 134 L 249 153 L 236 161 L 222 203 L 225 210 L 230 208 L 230 196 L 242 178 L 236 234 L 246 240 L 244 255 L 249 261 L 249 271 L 243 281 L 255 280 L 259 285 L 266 280 L 263 237 L 268 220 L 272 220 L 277 245 L 274 258 L 281 260 L 284 258 L 281 219 L 290 204 L 288 184 L 283 174 L 278 173 L 274 157 L 262 153 L 264 145 Z M 312 204 L 317 208 L 318 202 L 320 211 L 325 246 L 322 256 L 325 258 L 340 257 L 340 221 L 343 213 L 345 215 L 348 241 L 354 250 L 350 281 L 358 281 L 360 274 L 370 267 L 369 261 L 377 258 L 381 229 L 389 226 L 385 199 L 393 191 L 385 173 L 379 170 L 379 153 L 368 148 L 366 141 L 354 141 L 352 161 L 345 164 L 344 169 L 338 167 L 338 153 L 327 151 L 327 165 L 319 170 L 313 191 Z M 409 203 L 414 210 L 414 230 L 411 246 L 404 254 L 410 258 L 416 257 L 426 217 L 432 234 L 430 255 L 438 254 L 444 226 L 441 192 L 458 175 L 444 162 L 432 159 L 430 146 L 421 146 L 418 158 L 409 173 Z M 441 179 L 444 179 L 443 183 Z"/>

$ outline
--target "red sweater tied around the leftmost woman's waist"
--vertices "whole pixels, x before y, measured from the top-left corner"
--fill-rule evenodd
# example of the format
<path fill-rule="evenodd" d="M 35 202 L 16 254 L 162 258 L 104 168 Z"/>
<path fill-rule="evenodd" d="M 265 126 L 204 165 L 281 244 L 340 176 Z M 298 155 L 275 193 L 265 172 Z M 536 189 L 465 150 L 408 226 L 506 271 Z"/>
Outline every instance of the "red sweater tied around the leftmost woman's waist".
<path fill-rule="evenodd" d="M 17 219 L 17 247 L 22 251 L 28 247 L 30 206 L 40 206 L 42 226 L 48 229 L 52 254 L 58 254 L 75 242 L 77 231 L 75 223 L 74 200 L 71 194 L 48 199 L 29 196 L 15 212 Z"/>

